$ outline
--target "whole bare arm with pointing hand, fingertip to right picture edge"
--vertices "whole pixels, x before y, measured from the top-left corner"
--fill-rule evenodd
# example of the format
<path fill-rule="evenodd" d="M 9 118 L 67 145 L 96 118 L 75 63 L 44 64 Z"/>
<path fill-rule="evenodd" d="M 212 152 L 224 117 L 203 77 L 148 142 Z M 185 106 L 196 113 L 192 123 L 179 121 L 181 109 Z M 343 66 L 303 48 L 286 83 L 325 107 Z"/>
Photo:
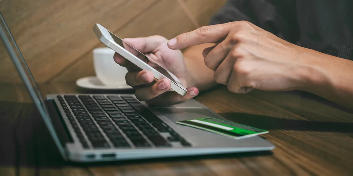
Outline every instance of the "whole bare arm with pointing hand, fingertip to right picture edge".
<path fill-rule="evenodd" d="M 170 49 L 219 42 L 205 55 L 214 80 L 234 93 L 305 90 L 353 109 L 353 61 L 289 43 L 247 21 L 204 26 Z"/>

